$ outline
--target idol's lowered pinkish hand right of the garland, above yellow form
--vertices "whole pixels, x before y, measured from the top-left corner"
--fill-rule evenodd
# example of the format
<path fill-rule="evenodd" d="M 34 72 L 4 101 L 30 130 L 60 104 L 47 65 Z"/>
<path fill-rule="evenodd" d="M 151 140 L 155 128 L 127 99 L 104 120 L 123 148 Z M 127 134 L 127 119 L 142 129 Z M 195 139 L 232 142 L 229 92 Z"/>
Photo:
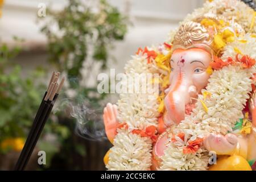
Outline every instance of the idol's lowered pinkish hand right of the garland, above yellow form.
<path fill-rule="evenodd" d="M 237 147 L 237 136 L 233 134 L 210 134 L 204 139 L 204 147 L 208 151 L 215 151 L 218 155 L 232 155 Z"/>

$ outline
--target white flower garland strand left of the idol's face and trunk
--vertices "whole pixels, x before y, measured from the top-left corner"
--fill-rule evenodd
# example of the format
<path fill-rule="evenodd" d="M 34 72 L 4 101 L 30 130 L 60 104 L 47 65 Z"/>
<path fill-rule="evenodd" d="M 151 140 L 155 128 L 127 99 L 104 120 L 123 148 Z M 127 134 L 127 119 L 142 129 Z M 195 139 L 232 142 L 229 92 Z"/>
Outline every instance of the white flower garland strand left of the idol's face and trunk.
<path fill-rule="evenodd" d="M 125 66 L 125 73 L 135 80 L 137 74 L 157 73 L 152 63 L 148 63 L 147 55 L 135 55 Z M 126 82 L 124 84 L 127 84 Z M 153 84 L 148 82 L 148 84 Z M 150 85 L 148 85 L 150 86 Z M 127 85 L 129 87 L 129 85 Z M 151 87 L 150 87 L 151 88 Z M 154 88 L 154 87 L 152 87 Z M 118 120 L 128 125 L 128 130 L 118 130 L 114 138 L 114 146 L 110 149 L 109 170 L 150 170 L 152 142 L 150 138 L 132 134 L 134 129 L 144 130 L 158 123 L 158 93 L 123 93 L 118 100 Z"/>

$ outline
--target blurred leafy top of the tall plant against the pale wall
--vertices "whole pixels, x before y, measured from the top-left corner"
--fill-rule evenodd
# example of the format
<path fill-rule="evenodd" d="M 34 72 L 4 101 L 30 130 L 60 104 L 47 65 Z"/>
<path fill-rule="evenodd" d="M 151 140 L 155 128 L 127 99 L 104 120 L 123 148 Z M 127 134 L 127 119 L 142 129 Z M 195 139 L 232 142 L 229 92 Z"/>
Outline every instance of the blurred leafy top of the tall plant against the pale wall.
<path fill-rule="evenodd" d="M 49 60 L 61 72 L 65 71 L 71 88 L 80 87 L 74 78 L 81 78 L 81 69 L 86 64 L 88 51 L 92 49 L 92 59 L 101 63 L 101 69 L 106 68 L 109 59 L 109 49 L 114 40 L 122 40 L 127 32 L 127 19 L 118 9 L 105 0 L 98 2 L 97 9 L 79 0 L 69 0 L 68 5 L 60 12 L 49 10 L 51 17 L 43 26 L 42 32 L 48 38 Z M 52 27 L 56 26 L 56 30 Z M 90 67 L 86 72 L 92 72 Z M 97 92 L 95 88 L 84 91 Z"/>

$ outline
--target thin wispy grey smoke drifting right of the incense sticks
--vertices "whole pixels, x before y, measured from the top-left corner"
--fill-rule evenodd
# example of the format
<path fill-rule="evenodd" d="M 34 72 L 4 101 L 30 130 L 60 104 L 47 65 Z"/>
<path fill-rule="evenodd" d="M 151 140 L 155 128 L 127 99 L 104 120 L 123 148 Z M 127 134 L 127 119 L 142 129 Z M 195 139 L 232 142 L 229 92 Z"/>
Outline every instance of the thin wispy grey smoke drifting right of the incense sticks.
<path fill-rule="evenodd" d="M 63 113 L 67 117 L 76 120 L 75 133 L 84 139 L 101 141 L 106 140 L 105 126 L 102 118 L 104 103 L 101 101 L 89 101 L 84 92 L 80 92 L 81 82 L 77 77 L 68 77 L 65 94 L 60 94 L 66 98 L 60 99 L 53 108 L 53 113 Z M 71 86 L 76 89 L 72 89 Z M 81 88 L 81 90 L 80 90 Z M 92 94 L 94 92 L 87 94 Z"/>

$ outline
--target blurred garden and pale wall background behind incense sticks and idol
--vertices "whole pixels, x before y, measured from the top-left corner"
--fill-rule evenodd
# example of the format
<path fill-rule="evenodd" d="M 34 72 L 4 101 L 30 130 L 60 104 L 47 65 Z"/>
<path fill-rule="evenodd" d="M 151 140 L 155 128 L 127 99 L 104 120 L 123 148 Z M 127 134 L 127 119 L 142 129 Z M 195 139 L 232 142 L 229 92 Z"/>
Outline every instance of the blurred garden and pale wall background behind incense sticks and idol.
<path fill-rule="evenodd" d="M 52 71 L 67 77 L 27 169 L 105 170 L 98 73 L 123 72 L 204 0 L 0 0 L 0 169 L 13 169 Z M 39 166 L 38 151 L 47 163 Z"/>

